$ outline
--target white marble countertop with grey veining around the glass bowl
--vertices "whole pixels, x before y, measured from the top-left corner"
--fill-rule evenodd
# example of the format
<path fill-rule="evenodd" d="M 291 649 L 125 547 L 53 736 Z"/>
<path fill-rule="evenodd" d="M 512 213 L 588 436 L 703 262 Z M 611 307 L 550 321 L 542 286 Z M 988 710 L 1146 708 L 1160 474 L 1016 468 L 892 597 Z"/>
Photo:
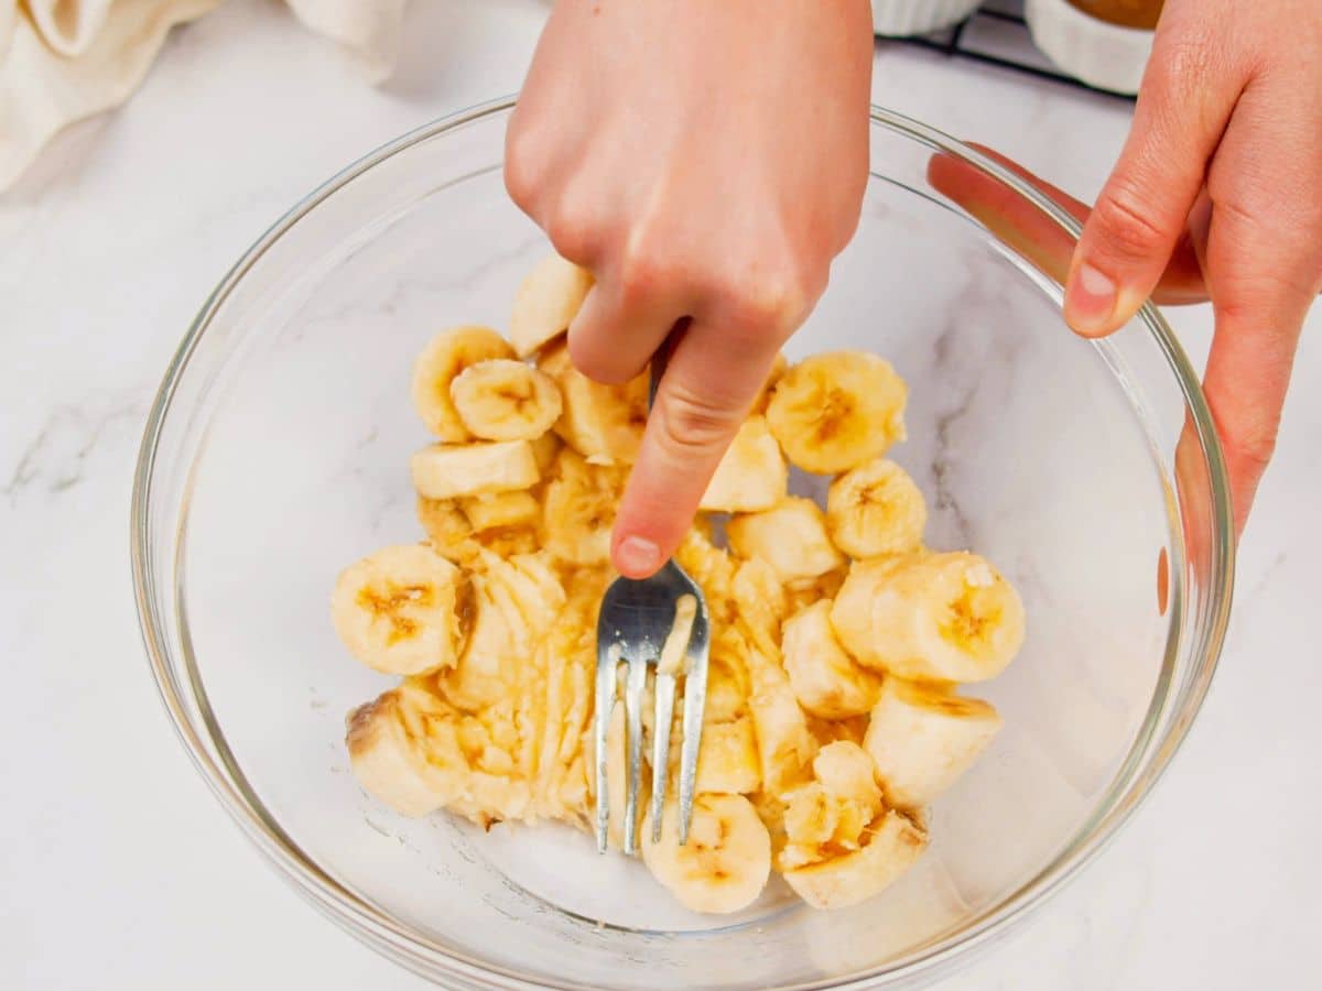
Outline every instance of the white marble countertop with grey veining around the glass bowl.
<path fill-rule="evenodd" d="M 0 986 L 416 988 L 303 905 L 176 744 L 128 583 L 151 395 L 201 299 L 313 185 L 397 133 L 517 87 L 545 5 L 415 3 L 368 87 L 272 4 L 176 34 L 123 111 L 0 197 Z M 875 99 L 1093 193 L 1125 106 L 879 49 Z M 1174 314 L 1206 353 L 1210 314 Z M 1315 987 L 1322 926 L 1322 308 L 1240 559 L 1222 670 L 1117 842 L 943 988 Z"/>

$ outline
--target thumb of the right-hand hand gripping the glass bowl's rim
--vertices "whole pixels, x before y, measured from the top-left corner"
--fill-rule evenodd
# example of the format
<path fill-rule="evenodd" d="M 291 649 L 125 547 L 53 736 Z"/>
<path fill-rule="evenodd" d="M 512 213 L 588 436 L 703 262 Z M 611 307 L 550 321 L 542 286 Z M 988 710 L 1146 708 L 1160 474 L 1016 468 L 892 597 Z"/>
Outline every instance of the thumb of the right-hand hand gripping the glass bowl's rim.
<path fill-rule="evenodd" d="M 1227 85 L 1218 42 L 1199 42 L 1191 58 L 1191 42 L 1162 28 L 1129 139 L 1069 266 L 1066 322 L 1088 337 L 1122 326 L 1157 288 L 1241 89 Z"/>

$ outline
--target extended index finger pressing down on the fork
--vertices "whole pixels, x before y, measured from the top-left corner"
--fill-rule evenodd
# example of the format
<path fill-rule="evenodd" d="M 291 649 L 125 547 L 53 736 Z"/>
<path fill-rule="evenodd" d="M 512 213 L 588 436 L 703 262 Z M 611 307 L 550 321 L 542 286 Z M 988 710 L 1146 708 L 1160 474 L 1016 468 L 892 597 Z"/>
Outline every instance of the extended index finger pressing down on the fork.
<path fill-rule="evenodd" d="M 621 575 L 646 577 L 683 540 L 776 351 L 771 334 L 701 321 L 680 337 L 615 519 L 611 555 Z"/>

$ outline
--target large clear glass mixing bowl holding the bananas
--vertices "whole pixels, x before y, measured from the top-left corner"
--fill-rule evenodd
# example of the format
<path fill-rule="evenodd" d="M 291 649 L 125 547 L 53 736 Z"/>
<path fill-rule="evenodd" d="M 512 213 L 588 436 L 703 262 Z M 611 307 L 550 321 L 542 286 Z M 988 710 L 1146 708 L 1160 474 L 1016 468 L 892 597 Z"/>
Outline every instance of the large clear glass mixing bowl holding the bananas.
<path fill-rule="evenodd" d="M 341 649 L 328 596 L 346 563 L 420 535 L 414 355 L 447 324 L 504 326 L 547 250 L 501 182 L 510 107 L 337 176 L 189 329 L 132 510 L 143 636 L 180 739 L 313 905 L 449 987 L 921 982 L 1096 854 L 1202 703 L 1233 551 L 1195 375 L 1151 308 L 1103 342 L 1068 333 L 1050 272 L 1076 225 L 976 152 L 874 111 L 858 235 L 791 357 L 869 348 L 895 363 L 911 386 L 895 456 L 931 499 L 929 543 L 995 560 L 1030 628 L 981 686 L 1006 728 L 937 802 L 921 865 L 851 910 L 814 913 L 773 887 L 713 920 L 583 834 L 402 819 L 348 772 L 344 715 L 389 680 Z"/>

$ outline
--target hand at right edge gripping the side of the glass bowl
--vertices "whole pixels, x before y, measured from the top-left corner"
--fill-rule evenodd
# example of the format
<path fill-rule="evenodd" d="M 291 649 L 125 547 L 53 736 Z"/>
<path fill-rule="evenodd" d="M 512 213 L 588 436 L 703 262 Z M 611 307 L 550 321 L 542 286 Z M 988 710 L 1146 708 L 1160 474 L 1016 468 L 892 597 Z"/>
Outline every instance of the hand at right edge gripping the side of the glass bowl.
<path fill-rule="evenodd" d="M 1266 469 L 1300 329 L 1322 291 L 1322 5 L 1167 0 L 1133 129 L 1073 252 L 1066 320 L 1125 324 L 1211 297 L 1204 388 L 1236 530 Z"/>

